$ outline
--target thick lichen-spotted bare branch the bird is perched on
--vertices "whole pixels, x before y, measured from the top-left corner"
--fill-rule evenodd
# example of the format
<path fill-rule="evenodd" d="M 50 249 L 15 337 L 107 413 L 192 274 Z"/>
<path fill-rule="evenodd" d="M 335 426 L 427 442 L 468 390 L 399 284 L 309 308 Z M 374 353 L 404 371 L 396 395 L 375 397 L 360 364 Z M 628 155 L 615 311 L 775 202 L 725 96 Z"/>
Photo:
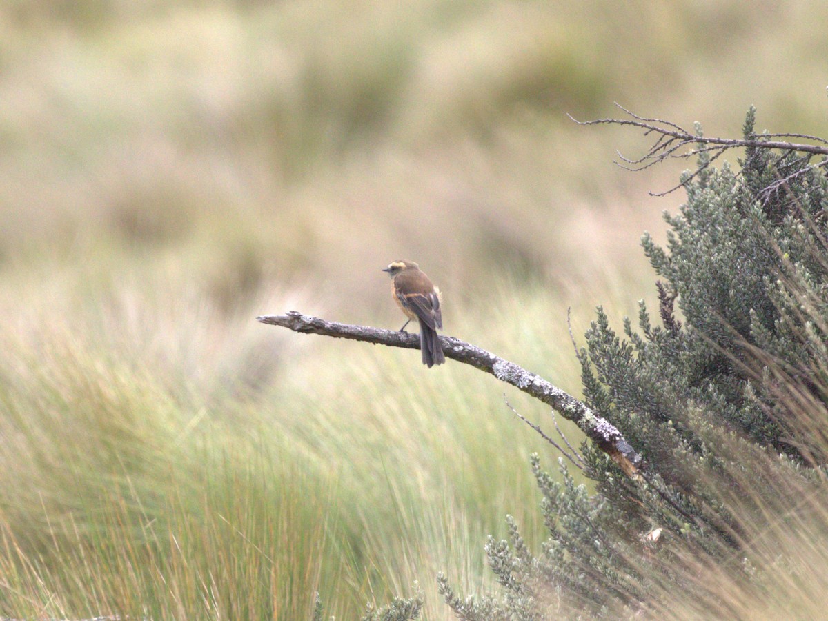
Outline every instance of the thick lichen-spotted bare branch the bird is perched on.
<path fill-rule="evenodd" d="M 383 330 L 367 325 L 340 324 L 319 317 L 303 315 L 290 310 L 285 315 L 264 315 L 256 318 L 262 324 L 281 325 L 303 334 L 332 336 L 335 339 L 361 340 L 366 343 L 420 349 L 420 336 L 407 332 Z M 569 421 L 575 422 L 595 445 L 619 465 L 629 477 L 638 479 L 645 466 L 641 455 L 624 440 L 621 432 L 609 421 L 598 416 L 584 402 L 572 397 L 545 379 L 530 373 L 515 363 L 508 362 L 485 349 L 465 343 L 451 336 L 440 335 L 440 344 L 446 358 L 469 364 L 499 380 L 512 384 L 532 397 L 551 406 Z"/>

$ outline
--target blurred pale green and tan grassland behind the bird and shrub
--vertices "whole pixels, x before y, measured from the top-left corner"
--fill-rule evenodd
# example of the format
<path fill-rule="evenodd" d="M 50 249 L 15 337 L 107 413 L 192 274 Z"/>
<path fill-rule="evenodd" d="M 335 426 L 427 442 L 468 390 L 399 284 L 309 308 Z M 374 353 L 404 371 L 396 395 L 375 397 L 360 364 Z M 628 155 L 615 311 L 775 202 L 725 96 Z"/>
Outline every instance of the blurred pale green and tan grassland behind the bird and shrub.
<path fill-rule="evenodd" d="M 613 102 L 707 135 L 826 133 L 813 2 L 8 0 L 0 5 L 0 614 L 300 619 L 542 537 L 503 387 L 259 325 L 446 332 L 579 392 L 580 336 L 655 299 L 687 162 L 580 128 Z M 772 27 L 769 27 L 772 25 Z M 508 392 L 546 426 L 545 408 Z M 577 440 L 571 427 L 570 439 Z M 534 539 L 533 539 L 534 537 Z"/>

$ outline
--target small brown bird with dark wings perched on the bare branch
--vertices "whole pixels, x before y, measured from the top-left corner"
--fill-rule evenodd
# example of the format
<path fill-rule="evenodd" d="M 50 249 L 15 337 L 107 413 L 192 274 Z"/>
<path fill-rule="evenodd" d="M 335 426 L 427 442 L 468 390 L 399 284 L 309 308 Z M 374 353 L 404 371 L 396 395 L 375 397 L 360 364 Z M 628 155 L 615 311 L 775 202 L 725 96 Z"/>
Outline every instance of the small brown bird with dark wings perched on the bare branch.
<path fill-rule="evenodd" d="M 437 330 L 443 329 L 443 315 L 440 311 L 440 291 L 412 261 L 394 261 L 383 269 L 391 277 L 391 291 L 394 301 L 408 318 L 400 332 L 405 331 L 408 322 L 420 322 L 420 349 L 422 363 L 428 368 L 445 363 L 443 347 Z"/>

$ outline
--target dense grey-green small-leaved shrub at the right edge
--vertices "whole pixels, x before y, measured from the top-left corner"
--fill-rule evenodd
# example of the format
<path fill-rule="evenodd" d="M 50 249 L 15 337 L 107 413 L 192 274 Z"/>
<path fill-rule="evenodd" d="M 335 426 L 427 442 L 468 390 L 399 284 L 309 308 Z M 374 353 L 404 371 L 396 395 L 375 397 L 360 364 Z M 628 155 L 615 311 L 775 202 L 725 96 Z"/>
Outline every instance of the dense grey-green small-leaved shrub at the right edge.
<path fill-rule="evenodd" d="M 754 123 L 752 108 L 746 138 L 757 138 Z M 821 498 L 824 162 L 753 147 L 735 172 L 700 152 L 696 173 L 681 180 L 686 204 L 666 215 L 667 248 L 643 237 L 659 277 L 657 320 L 641 302 L 638 330 L 626 319 L 619 334 L 599 308 L 578 353 L 585 402 L 646 469 L 630 479 L 585 444 L 590 495 L 562 460 L 559 482 L 533 456 L 549 538 L 529 551 L 510 517 L 510 541 L 489 540 L 501 594 L 461 598 L 440 575 L 460 619 L 647 613 L 676 592 L 690 608 L 724 605 L 700 567 L 760 593 L 767 576 L 755 567 L 767 560 L 751 542 L 768 516 Z"/>

